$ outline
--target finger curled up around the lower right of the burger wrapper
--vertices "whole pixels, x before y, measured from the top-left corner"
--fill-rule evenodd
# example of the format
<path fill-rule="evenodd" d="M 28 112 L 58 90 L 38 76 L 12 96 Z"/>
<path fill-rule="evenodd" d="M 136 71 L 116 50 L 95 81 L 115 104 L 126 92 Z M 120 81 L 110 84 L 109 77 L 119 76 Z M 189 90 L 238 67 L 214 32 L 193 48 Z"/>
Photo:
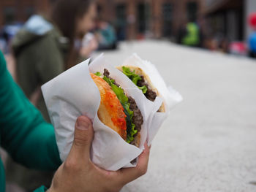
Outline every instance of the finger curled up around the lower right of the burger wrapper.
<path fill-rule="evenodd" d="M 122 183 L 129 183 L 141 175 L 146 174 L 148 169 L 149 148 L 146 143 L 144 144 L 144 147 L 145 149 L 143 150 L 143 153 L 139 155 L 137 166 L 119 170 L 120 175 L 118 175 L 118 177 Z"/>

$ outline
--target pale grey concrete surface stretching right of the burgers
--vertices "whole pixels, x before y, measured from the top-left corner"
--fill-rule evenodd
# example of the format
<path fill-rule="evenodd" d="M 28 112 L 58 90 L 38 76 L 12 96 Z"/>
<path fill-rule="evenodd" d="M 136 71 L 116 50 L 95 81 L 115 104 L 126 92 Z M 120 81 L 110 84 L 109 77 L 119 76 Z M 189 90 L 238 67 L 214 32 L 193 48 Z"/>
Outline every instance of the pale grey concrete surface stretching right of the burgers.
<path fill-rule="evenodd" d="M 256 191 L 256 60 L 179 47 L 124 43 L 157 65 L 184 101 L 154 139 L 148 173 L 126 191 Z"/>

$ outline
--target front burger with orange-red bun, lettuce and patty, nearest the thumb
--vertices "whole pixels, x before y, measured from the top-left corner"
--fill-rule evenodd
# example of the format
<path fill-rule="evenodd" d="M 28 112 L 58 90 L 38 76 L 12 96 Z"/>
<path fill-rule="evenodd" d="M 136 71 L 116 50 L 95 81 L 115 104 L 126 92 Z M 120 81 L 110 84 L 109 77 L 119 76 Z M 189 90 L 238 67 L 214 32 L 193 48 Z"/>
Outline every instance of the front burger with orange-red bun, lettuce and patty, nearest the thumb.
<path fill-rule="evenodd" d="M 91 73 L 100 93 L 97 112 L 99 120 L 116 131 L 126 142 L 138 147 L 143 116 L 131 96 L 127 96 L 120 85 L 110 77 L 108 69 L 104 73 Z"/>

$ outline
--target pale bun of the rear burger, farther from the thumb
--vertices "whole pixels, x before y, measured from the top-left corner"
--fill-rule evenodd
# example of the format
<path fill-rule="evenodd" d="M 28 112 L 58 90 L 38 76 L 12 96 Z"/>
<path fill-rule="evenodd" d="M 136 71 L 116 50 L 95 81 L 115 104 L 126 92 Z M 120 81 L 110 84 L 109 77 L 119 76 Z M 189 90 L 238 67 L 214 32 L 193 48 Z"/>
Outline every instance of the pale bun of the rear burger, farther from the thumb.
<path fill-rule="evenodd" d="M 145 82 L 148 84 L 148 88 L 150 88 L 152 91 L 154 91 L 155 93 L 157 93 L 157 96 L 160 96 L 159 91 L 157 90 L 157 88 L 153 85 L 153 83 L 150 80 L 150 77 L 148 77 L 148 74 L 146 74 L 143 69 L 141 69 L 138 66 L 126 66 L 128 67 L 132 72 L 134 71 L 135 74 L 138 74 L 140 76 L 144 77 Z M 119 71 L 123 71 L 122 66 L 116 66 L 116 69 L 118 69 Z M 159 107 L 159 112 L 165 112 L 165 104 L 162 103 L 162 105 Z"/>

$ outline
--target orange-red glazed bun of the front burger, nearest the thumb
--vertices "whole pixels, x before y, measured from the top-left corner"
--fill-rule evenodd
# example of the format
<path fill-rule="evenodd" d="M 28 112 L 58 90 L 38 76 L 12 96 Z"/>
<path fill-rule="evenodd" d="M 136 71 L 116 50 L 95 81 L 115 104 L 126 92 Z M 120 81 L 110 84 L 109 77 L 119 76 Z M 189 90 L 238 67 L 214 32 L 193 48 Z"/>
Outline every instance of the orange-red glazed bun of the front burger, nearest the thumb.
<path fill-rule="evenodd" d="M 127 140 L 127 123 L 124 108 L 108 82 L 91 73 L 91 78 L 99 88 L 100 104 L 98 110 L 99 120 L 116 131 L 125 141 Z"/>

